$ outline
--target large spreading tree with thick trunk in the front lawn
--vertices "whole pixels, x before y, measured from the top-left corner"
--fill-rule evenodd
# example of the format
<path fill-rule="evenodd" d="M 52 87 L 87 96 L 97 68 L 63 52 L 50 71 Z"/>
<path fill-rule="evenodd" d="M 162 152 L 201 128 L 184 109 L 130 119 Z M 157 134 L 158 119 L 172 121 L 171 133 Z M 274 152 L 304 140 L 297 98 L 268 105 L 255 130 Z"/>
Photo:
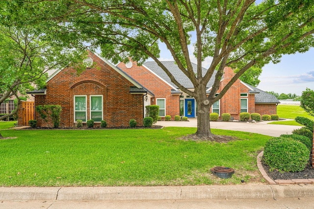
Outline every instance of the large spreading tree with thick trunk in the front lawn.
<path fill-rule="evenodd" d="M 50 21 L 64 42 L 75 40 L 99 47 L 114 63 L 128 57 L 157 62 L 171 81 L 197 101 L 197 132 L 212 137 L 209 108 L 246 70 L 279 62 L 283 54 L 314 46 L 313 0 L 20 0 L 21 10 Z M 53 23 L 51 22 L 53 21 Z M 53 26 L 52 26 L 53 25 Z M 47 28 L 49 29 L 49 28 Z M 186 89 L 159 60 L 160 44 L 191 80 Z M 190 47 L 193 45 L 194 47 Z M 192 49 L 193 48 L 193 49 Z M 197 72 L 191 56 L 197 59 Z M 202 61 L 211 57 L 206 74 Z M 235 76 L 216 96 L 226 66 Z M 215 81 L 207 95 L 211 76 Z"/>

